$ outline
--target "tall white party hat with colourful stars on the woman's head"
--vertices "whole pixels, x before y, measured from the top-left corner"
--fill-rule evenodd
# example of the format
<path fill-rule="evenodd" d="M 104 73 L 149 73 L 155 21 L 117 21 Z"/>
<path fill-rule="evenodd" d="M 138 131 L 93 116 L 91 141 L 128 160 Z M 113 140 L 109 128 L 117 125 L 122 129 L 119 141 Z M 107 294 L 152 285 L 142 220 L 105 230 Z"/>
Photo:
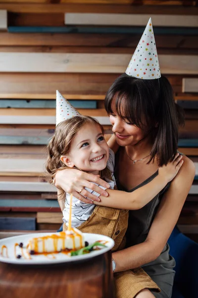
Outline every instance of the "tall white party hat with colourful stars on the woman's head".
<path fill-rule="evenodd" d="M 131 58 L 126 74 L 144 79 L 161 76 L 151 18 Z"/>

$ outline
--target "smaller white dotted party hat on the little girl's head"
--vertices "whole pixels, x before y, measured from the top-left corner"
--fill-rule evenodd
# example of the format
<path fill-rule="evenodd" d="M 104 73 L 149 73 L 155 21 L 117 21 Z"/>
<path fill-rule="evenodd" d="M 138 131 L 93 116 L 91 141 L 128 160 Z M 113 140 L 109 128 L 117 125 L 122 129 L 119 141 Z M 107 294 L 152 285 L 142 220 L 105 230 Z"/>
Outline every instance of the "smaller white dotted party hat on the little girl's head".
<path fill-rule="evenodd" d="M 81 116 L 81 114 L 56 90 L 56 126 L 74 116 Z"/>

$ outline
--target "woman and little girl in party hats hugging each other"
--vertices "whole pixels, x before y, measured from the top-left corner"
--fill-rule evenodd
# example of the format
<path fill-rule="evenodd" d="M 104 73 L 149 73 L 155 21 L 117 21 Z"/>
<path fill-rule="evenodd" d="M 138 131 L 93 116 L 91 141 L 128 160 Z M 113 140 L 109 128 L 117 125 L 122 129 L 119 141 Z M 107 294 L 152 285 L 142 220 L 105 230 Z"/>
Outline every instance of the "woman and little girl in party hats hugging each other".
<path fill-rule="evenodd" d="M 151 19 L 125 74 L 104 103 L 113 135 L 80 115 L 57 91 L 56 130 L 47 170 L 58 189 L 63 230 L 115 241 L 112 267 L 117 298 L 171 298 L 175 261 L 167 240 L 191 188 L 195 166 L 177 151 L 183 111 L 160 74 Z"/>

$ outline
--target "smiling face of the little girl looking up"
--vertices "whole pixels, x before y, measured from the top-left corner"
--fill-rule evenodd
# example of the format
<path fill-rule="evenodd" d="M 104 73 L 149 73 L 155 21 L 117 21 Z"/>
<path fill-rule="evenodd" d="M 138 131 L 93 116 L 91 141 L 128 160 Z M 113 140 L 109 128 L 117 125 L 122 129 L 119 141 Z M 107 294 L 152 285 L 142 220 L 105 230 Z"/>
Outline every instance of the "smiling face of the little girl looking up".
<path fill-rule="evenodd" d="M 77 133 L 71 143 L 68 166 L 76 166 L 83 171 L 98 174 L 106 167 L 109 148 L 99 125 L 87 123 Z"/>

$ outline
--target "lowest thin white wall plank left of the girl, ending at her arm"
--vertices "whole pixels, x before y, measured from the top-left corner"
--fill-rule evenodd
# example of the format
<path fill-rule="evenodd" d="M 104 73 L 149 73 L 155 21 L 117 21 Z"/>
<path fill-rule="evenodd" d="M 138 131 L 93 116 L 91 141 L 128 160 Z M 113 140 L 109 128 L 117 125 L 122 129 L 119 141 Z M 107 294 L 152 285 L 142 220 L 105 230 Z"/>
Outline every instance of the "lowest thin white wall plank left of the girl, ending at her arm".
<path fill-rule="evenodd" d="M 54 185 L 49 183 L 43 183 L 43 182 L 0 181 L 0 191 L 55 192 L 56 193 L 57 189 Z M 57 207 L 57 206 L 54 206 L 54 207 Z"/>

